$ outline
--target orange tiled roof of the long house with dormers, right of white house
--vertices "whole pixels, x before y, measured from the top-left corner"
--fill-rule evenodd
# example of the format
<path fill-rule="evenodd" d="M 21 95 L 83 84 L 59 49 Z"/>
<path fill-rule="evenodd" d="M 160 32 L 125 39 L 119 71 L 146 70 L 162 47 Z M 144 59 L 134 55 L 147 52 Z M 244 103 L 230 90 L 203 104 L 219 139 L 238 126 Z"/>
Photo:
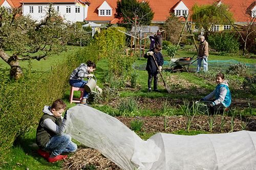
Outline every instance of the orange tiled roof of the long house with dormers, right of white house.
<path fill-rule="evenodd" d="M 139 0 L 142 2 L 142 0 Z M 111 5 L 114 10 L 112 11 L 111 17 L 106 16 L 98 16 L 98 10 L 96 10 L 104 0 L 95 0 L 92 2 L 91 6 L 88 9 L 88 16 L 86 20 L 90 21 L 102 21 L 102 20 L 113 20 L 114 13 L 116 8 L 116 0 L 108 0 L 108 4 Z M 152 21 L 165 21 L 166 17 L 169 16 L 169 12 L 174 12 L 174 8 L 178 6 L 181 1 L 177 0 L 150 0 L 149 4 L 153 11 L 155 12 L 154 18 Z M 212 4 L 215 1 L 212 0 L 183 0 L 182 1 L 187 8 L 189 9 L 189 13 L 191 14 L 191 7 L 198 3 L 201 5 Z M 220 2 L 220 1 L 216 1 Z M 224 4 L 230 5 L 230 11 L 233 12 L 233 17 L 236 18 L 236 22 L 247 22 L 248 17 L 246 17 L 245 11 L 246 9 L 254 2 L 254 0 L 240 1 L 240 0 L 222 0 Z"/>

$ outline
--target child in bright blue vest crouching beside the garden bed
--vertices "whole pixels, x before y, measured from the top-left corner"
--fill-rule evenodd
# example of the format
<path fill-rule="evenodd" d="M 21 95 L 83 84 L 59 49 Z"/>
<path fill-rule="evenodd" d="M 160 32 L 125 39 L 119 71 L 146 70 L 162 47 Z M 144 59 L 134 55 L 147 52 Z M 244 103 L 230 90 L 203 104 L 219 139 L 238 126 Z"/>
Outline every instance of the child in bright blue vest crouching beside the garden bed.
<path fill-rule="evenodd" d="M 228 81 L 224 79 L 223 73 L 219 72 L 216 75 L 217 86 L 215 90 L 206 95 L 203 99 L 200 99 L 200 101 L 207 101 L 215 96 L 215 101 L 207 105 L 212 113 L 216 113 L 217 111 L 223 113 L 224 109 L 231 103 L 231 94 L 227 82 Z"/>

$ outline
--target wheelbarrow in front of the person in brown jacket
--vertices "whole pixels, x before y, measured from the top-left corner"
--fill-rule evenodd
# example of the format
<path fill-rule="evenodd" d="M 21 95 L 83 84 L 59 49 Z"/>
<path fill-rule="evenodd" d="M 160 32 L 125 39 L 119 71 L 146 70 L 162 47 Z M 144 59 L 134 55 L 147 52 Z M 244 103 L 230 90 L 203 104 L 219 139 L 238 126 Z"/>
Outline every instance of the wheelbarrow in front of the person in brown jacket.
<path fill-rule="evenodd" d="M 197 54 L 195 54 L 192 58 L 191 57 L 181 57 L 181 58 L 173 58 L 170 61 L 174 62 L 175 64 L 172 65 L 170 67 L 170 69 L 172 69 L 173 71 L 183 71 L 186 70 L 187 72 L 191 72 L 191 64 L 193 64 L 194 62 L 196 62 L 198 59 L 202 58 L 196 58 L 194 59 L 194 57 L 197 56 Z"/>

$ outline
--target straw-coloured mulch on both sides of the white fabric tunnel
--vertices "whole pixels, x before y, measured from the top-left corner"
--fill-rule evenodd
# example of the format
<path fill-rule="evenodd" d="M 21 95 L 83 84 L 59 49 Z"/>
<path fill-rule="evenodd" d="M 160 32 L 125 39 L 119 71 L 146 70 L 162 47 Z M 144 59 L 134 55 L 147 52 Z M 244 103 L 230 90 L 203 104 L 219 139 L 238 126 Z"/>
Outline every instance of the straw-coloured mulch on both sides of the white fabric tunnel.
<path fill-rule="evenodd" d="M 221 115 L 217 115 L 215 124 L 212 133 L 228 133 L 231 129 L 230 127 L 230 117 L 225 116 L 224 120 L 226 120 L 226 125 L 223 127 L 221 131 Z M 133 120 L 133 117 L 123 117 L 118 116 L 116 117 L 119 119 L 123 124 L 125 124 L 127 127 L 130 127 L 129 122 Z M 164 116 L 146 116 L 142 117 L 142 120 L 144 122 L 144 125 L 142 126 L 141 132 L 145 133 L 171 133 L 173 131 L 178 130 L 186 130 L 184 124 L 186 122 L 186 116 L 170 116 L 168 119 L 167 127 L 171 127 L 164 130 Z M 245 117 L 244 117 L 245 120 Z M 248 123 L 248 126 L 245 128 L 245 130 L 249 131 L 256 131 L 256 116 L 252 116 L 250 119 L 250 122 Z M 196 115 L 193 119 L 192 126 L 189 128 L 190 131 L 194 130 L 205 130 L 206 132 L 209 131 L 209 125 L 207 125 L 208 122 L 208 116 L 206 115 Z M 240 117 L 234 117 L 234 124 L 236 124 L 233 128 L 233 131 L 241 131 L 242 127 L 239 125 L 241 124 Z M 206 125 L 205 125 L 206 124 Z M 201 128 L 200 128 L 201 126 Z M 97 169 L 97 170 L 103 170 L 103 169 L 120 169 L 115 163 L 113 163 L 111 160 L 105 158 L 102 154 L 100 154 L 97 150 L 89 149 L 89 148 L 82 148 L 78 149 L 77 152 L 73 156 L 71 156 L 69 159 L 67 159 L 64 163 L 65 169 L 71 169 L 71 170 L 80 170 L 83 169 L 84 164 L 88 164 L 91 167 L 91 169 Z M 94 166 L 93 166 L 94 165 Z M 87 168 L 84 168 L 87 169 Z M 89 169 L 89 168 L 88 168 Z"/>

